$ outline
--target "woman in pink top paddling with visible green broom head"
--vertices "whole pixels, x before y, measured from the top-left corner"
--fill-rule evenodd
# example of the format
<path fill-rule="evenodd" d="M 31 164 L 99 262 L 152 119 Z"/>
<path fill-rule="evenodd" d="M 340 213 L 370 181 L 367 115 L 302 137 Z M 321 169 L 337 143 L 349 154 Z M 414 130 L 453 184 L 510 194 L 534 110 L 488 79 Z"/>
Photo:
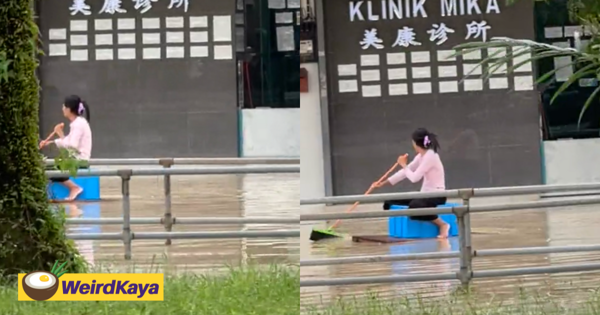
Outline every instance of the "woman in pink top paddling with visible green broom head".
<path fill-rule="evenodd" d="M 444 166 L 440 156 L 437 154 L 440 148 L 435 134 L 425 128 L 419 128 L 412 134 L 412 145 L 416 157 L 407 164 L 408 154 L 398 157 L 398 164 L 402 167 L 400 171 L 388 179 L 373 183 L 373 187 L 379 188 L 385 185 L 395 185 L 405 178 L 411 182 L 423 180 L 421 191 L 437 191 L 446 189 Z M 383 209 L 389 210 L 392 205 L 408 206 L 409 208 L 436 208 L 446 203 L 446 197 L 418 198 L 406 200 L 388 200 L 383 203 Z M 413 220 L 431 221 L 439 227 L 438 238 L 448 238 L 450 226 L 437 215 L 421 215 L 410 217 Z"/>

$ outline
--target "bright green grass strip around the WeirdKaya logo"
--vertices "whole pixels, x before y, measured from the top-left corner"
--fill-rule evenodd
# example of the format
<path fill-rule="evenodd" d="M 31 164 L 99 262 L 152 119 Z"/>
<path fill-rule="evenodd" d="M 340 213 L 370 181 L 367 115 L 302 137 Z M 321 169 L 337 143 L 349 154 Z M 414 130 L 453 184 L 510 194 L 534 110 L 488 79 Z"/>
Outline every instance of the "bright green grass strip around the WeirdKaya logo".
<path fill-rule="evenodd" d="M 298 268 L 230 268 L 212 275 L 165 275 L 164 301 L 17 301 L 0 287 L 0 315 L 298 315 Z"/>

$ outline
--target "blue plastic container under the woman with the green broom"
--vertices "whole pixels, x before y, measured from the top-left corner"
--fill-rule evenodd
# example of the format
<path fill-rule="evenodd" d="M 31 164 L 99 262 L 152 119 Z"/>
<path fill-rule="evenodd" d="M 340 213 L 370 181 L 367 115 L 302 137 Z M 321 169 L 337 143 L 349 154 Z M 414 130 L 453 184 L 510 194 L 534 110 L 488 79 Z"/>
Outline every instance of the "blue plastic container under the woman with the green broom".
<path fill-rule="evenodd" d="M 452 206 L 461 206 L 458 203 L 446 203 L 437 206 L 437 208 L 450 208 Z M 407 206 L 393 205 L 391 211 L 401 211 L 408 209 Z M 450 224 L 448 236 L 458 235 L 458 225 L 454 214 L 442 214 L 439 217 Z M 435 238 L 439 235 L 437 226 L 428 221 L 410 220 L 409 217 L 391 217 L 388 219 L 388 234 L 394 238 Z"/>

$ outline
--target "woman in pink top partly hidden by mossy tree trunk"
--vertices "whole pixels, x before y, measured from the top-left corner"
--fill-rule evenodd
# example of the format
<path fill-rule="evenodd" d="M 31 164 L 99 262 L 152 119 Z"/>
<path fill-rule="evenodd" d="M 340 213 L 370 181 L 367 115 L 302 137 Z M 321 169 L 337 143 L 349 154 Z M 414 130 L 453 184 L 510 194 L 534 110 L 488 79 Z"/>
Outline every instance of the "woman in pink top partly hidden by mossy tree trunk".
<path fill-rule="evenodd" d="M 71 95 L 65 98 L 65 103 L 62 105 L 62 114 L 70 121 L 69 134 L 65 136 L 63 131 L 65 124 L 61 122 L 54 127 L 54 133 L 58 138 L 40 142 L 40 149 L 50 143 L 55 143 L 59 148 L 73 150 L 74 157 L 77 160 L 88 161 L 92 152 L 92 130 L 89 127 L 88 104 L 77 95 Z M 79 168 L 87 169 L 88 166 L 80 166 Z M 71 181 L 68 176 L 52 178 L 52 181 L 60 182 L 68 188 L 68 201 L 75 200 L 83 192 L 83 188 Z"/>

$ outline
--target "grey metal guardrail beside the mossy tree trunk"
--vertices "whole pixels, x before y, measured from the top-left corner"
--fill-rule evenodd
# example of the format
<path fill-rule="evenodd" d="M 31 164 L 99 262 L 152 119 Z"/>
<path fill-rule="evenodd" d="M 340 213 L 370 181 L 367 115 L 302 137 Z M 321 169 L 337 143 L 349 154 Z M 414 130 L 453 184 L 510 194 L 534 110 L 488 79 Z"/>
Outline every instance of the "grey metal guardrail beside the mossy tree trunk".
<path fill-rule="evenodd" d="M 290 220 L 298 222 L 295 218 L 178 218 L 173 217 L 171 211 L 171 178 L 172 175 L 218 175 L 218 174 L 262 174 L 262 173 L 299 173 L 298 163 L 289 163 L 290 159 L 254 159 L 252 163 L 236 162 L 239 159 L 136 159 L 136 160 L 91 160 L 95 165 L 149 165 L 159 163 L 158 161 L 169 160 L 170 163 L 199 164 L 200 161 L 211 161 L 212 164 L 266 164 L 265 161 L 280 160 L 280 164 L 291 165 L 245 165 L 245 166 L 214 166 L 214 167 L 181 167 L 172 169 L 173 164 L 161 164 L 163 169 L 118 169 L 118 170 L 78 170 L 75 176 L 119 176 L 121 178 L 121 195 L 123 203 L 122 218 L 100 218 L 100 219 L 67 219 L 68 224 L 122 224 L 121 233 L 68 233 L 67 237 L 80 240 L 122 240 L 125 245 L 125 259 L 131 259 L 131 241 L 133 239 L 166 239 L 165 244 L 170 245 L 172 239 L 223 239 L 223 238 L 293 238 L 300 236 L 300 230 L 262 230 L 262 231 L 235 231 L 235 232 L 172 232 L 173 224 L 286 224 Z M 179 161 L 181 160 L 181 161 Z M 218 160 L 218 163 L 217 163 Z M 296 159 L 299 162 L 299 159 Z M 179 161 L 179 162 L 178 162 Z M 260 163 L 262 161 L 263 163 Z M 285 161 L 285 162 L 282 162 Z M 118 163 L 117 163 L 118 162 Z M 47 161 L 47 163 L 52 163 Z M 145 164 L 148 163 L 148 164 Z M 204 163 L 211 164 L 211 163 Z M 47 170 L 49 178 L 65 176 L 64 172 L 58 170 Z M 163 218 L 131 218 L 130 206 L 130 183 L 132 176 L 164 176 L 165 211 Z M 166 232 L 137 232 L 131 231 L 131 224 L 163 224 Z"/>

